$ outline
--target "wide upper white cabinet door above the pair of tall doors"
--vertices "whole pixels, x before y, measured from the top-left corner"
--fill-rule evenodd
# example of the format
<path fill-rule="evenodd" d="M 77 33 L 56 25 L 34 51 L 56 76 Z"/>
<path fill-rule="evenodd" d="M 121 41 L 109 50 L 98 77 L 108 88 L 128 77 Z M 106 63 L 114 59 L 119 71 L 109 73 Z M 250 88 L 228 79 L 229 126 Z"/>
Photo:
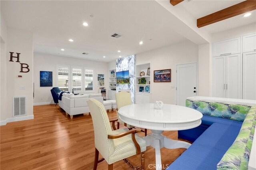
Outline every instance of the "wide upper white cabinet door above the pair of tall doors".
<path fill-rule="evenodd" d="M 241 38 L 232 38 L 213 43 L 213 56 L 230 55 L 241 52 Z"/>

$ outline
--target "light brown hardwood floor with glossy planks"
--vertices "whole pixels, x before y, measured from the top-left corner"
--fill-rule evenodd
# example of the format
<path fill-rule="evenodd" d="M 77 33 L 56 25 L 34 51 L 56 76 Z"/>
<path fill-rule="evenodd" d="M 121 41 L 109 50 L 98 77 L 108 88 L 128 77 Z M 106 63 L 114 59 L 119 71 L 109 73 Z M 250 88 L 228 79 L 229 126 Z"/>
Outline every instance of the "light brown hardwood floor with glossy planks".
<path fill-rule="evenodd" d="M 116 111 L 108 112 L 110 118 Z M 120 128 L 124 128 L 122 125 Z M 1 170 L 92 170 L 94 162 L 94 130 L 90 115 L 75 115 L 73 119 L 55 105 L 34 106 L 34 119 L 8 123 L 0 127 Z M 150 130 L 148 130 L 150 134 Z M 144 136 L 141 132 L 140 136 Z M 176 131 L 164 135 L 177 139 Z M 162 164 L 172 163 L 185 149 L 161 149 Z M 102 158 L 101 155 L 99 158 Z M 140 154 L 128 158 L 133 166 L 140 165 Z M 145 167 L 155 162 L 154 148 L 147 147 Z M 148 168 L 150 165 L 150 168 Z M 98 164 L 98 170 L 106 170 L 106 161 Z M 115 170 L 131 170 L 120 160 Z"/>

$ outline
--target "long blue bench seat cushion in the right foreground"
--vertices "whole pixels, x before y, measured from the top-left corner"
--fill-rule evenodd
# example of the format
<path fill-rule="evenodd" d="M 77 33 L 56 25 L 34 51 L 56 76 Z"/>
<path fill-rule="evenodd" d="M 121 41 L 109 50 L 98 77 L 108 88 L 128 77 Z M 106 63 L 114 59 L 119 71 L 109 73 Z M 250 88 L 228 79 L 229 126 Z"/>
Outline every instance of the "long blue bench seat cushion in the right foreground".
<path fill-rule="evenodd" d="M 240 127 L 213 123 L 170 166 L 171 170 L 216 170 L 218 162 L 234 142 Z"/>

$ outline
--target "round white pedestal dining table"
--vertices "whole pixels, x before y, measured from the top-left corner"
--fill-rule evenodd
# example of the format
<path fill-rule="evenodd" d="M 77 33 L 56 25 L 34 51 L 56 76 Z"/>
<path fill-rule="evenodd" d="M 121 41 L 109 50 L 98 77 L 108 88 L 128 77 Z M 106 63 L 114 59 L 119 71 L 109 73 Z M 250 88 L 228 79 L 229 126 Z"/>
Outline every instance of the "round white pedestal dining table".
<path fill-rule="evenodd" d="M 162 170 L 160 148 L 188 148 L 191 144 L 162 135 L 164 130 L 186 130 L 201 125 L 202 113 L 194 109 L 164 104 L 154 109 L 154 103 L 132 104 L 118 109 L 119 119 L 128 125 L 146 128 L 151 134 L 144 137 L 147 146 L 155 148 L 156 170 Z"/>

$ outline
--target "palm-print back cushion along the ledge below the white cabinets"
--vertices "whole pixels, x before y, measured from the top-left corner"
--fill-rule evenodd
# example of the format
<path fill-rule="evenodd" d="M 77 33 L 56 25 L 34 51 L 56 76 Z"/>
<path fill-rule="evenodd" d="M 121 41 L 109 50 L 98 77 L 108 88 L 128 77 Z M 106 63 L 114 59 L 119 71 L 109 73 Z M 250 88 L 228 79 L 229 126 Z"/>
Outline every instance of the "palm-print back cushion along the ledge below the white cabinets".
<path fill-rule="evenodd" d="M 241 122 L 244 121 L 251 108 L 251 106 L 246 105 L 191 100 L 186 100 L 186 107 L 196 109 L 203 115 L 232 119 Z"/>

